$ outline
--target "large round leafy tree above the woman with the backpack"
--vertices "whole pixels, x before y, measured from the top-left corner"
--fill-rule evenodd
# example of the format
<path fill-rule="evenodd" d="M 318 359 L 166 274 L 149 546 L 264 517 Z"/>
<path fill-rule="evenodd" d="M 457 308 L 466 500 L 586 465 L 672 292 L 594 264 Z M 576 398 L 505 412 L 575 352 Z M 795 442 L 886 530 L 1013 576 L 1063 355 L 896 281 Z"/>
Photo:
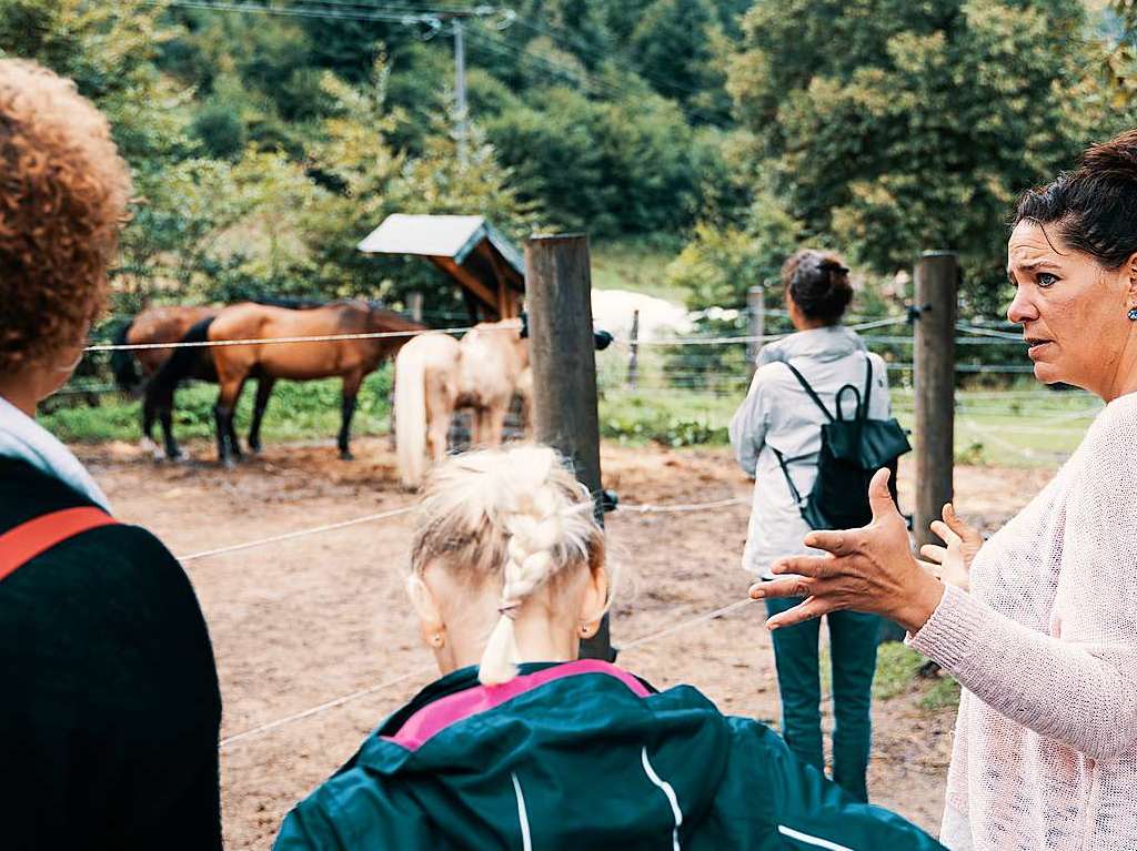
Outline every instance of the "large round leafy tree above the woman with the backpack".
<path fill-rule="evenodd" d="M 989 310 L 1015 197 L 1104 123 L 1085 26 L 1059 0 L 760 3 L 730 89 L 806 236 L 880 273 L 956 249 Z"/>

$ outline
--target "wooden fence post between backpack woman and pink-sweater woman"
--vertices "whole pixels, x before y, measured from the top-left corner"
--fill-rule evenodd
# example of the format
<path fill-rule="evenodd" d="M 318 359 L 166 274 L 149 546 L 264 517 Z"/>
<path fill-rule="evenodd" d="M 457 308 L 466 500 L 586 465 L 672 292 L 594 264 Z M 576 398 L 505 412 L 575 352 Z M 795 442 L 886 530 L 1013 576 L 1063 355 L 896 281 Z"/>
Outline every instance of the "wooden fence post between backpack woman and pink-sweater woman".
<path fill-rule="evenodd" d="M 955 459 L 955 318 L 960 265 L 951 251 L 926 251 L 915 268 L 916 543 L 952 499 Z"/>

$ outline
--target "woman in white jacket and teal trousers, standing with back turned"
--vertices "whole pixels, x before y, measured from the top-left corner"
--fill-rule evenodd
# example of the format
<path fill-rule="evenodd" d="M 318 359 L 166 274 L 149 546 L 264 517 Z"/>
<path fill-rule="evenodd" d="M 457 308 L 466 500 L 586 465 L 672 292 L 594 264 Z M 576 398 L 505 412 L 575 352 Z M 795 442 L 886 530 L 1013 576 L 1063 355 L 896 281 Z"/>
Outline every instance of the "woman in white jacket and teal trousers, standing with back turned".
<path fill-rule="evenodd" d="M 786 307 L 797 333 L 758 352 L 746 400 L 730 423 L 738 462 L 754 477 L 754 506 L 742 567 L 772 579 L 770 566 L 802 545 L 811 526 L 802 510 L 818 477 L 821 427 L 835 417 L 890 416 L 885 361 L 840 324 L 853 298 L 849 270 L 831 252 L 805 249 L 782 266 Z M 852 386 L 854 392 L 841 392 Z M 839 395 L 840 394 L 840 395 Z M 864 400 L 868 410 L 858 411 Z M 771 615 L 796 602 L 772 600 Z M 833 779 L 869 800 L 865 773 L 872 736 L 872 678 L 880 620 L 838 612 L 829 618 L 833 689 Z M 820 623 L 774 634 L 782 735 L 802 760 L 823 770 Z"/>

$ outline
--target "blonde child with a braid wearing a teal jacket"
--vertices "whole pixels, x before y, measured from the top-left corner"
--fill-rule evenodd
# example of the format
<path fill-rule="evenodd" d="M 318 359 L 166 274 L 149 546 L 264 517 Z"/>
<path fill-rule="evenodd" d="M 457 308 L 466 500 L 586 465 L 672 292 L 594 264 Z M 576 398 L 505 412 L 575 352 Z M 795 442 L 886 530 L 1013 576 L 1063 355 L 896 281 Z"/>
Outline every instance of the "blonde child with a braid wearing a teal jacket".
<path fill-rule="evenodd" d="M 941 848 L 691 686 L 579 659 L 604 554 L 553 450 L 437 466 L 407 586 L 442 677 L 293 808 L 277 851 Z"/>

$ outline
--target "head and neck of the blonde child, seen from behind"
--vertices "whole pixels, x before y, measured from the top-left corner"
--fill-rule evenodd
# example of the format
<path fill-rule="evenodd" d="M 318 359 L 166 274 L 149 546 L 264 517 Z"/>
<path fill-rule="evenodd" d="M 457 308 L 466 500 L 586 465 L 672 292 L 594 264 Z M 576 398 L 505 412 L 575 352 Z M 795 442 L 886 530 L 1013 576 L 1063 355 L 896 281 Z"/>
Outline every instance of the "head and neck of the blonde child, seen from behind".
<path fill-rule="evenodd" d="M 522 661 L 570 661 L 607 608 L 592 501 L 553 450 L 470 452 L 423 500 L 407 589 L 439 668 L 483 685 Z M 489 639 L 487 640 L 487 633 Z"/>

